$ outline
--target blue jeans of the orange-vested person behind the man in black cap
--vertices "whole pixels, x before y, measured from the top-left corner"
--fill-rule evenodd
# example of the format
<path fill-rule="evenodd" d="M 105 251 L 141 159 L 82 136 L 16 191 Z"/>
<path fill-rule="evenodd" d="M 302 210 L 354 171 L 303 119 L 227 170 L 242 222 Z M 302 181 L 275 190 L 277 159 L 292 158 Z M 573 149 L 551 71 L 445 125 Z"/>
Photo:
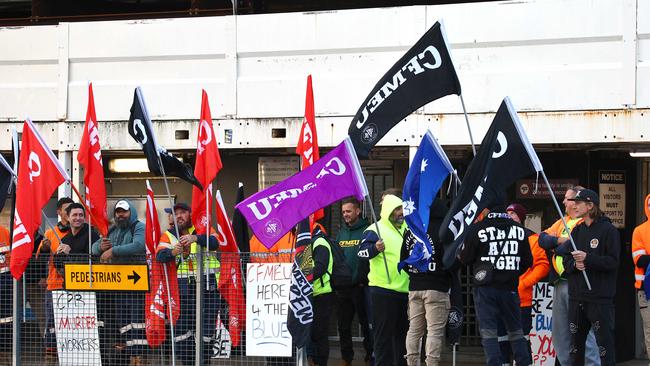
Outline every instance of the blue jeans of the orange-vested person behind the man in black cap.
<path fill-rule="evenodd" d="M 569 283 L 560 280 L 553 288 L 553 348 L 556 359 L 561 365 L 572 365 L 571 362 L 571 333 L 569 332 Z M 600 366 L 600 353 L 596 344 L 593 330 L 587 335 L 585 347 L 585 363 Z"/>

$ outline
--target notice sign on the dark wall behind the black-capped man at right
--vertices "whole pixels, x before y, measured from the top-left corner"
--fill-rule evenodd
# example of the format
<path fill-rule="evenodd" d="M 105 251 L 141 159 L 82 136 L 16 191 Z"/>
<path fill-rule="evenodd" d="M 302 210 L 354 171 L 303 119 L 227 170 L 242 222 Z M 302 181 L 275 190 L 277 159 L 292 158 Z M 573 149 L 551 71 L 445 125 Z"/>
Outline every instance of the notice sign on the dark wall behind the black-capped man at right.
<path fill-rule="evenodd" d="M 600 209 L 612 220 L 617 229 L 625 227 L 625 171 L 601 170 L 598 172 Z"/>

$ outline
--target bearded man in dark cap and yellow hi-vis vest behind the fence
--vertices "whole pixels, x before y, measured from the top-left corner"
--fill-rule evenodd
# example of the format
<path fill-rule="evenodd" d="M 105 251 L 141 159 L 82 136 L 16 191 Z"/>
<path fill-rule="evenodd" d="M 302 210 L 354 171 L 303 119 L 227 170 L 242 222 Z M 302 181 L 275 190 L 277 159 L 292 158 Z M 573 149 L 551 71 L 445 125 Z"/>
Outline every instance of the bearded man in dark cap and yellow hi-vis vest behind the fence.
<path fill-rule="evenodd" d="M 195 338 L 196 327 L 196 278 L 197 276 L 209 275 L 209 280 L 203 277 L 204 287 L 202 288 L 203 306 L 200 309 L 203 313 L 203 359 L 209 363 L 210 352 L 212 351 L 212 340 L 216 329 L 217 314 L 221 303 L 221 296 L 217 290 L 219 283 L 220 263 L 216 253 L 203 253 L 203 273 L 197 273 L 197 253 L 199 248 L 217 250 L 219 242 L 217 233 L 210 228 L 210 235 L 197 235 L 192 224 L 192 209 L 186 203 L 174 205 L 174 215 L 178 224 L 178 235 L 175 229 L 170 228 L 160 237 L 156 259 L 160 263 L 176 262 L 176 275 L 178 278 L 178 292 L 181 299 L 181 314 L 176 322 L 176 354 L 185 365 L 193 365 L 195 362 Z M 183 258 L 181 260 L 181 257 Z"/>

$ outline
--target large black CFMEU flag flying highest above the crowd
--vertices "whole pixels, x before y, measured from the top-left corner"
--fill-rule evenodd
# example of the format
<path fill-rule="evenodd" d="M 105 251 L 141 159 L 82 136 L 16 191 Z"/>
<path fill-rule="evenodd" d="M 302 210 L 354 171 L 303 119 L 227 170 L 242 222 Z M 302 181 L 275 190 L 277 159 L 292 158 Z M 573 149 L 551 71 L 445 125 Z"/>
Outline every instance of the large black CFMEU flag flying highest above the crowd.
<path fill-rule="evenodd" d="M 360 158 L 404 117 L 423 105 L 460 95 L 444 26 L 431 27 L 379 80 L 350 123 L 348 135 Z"/>

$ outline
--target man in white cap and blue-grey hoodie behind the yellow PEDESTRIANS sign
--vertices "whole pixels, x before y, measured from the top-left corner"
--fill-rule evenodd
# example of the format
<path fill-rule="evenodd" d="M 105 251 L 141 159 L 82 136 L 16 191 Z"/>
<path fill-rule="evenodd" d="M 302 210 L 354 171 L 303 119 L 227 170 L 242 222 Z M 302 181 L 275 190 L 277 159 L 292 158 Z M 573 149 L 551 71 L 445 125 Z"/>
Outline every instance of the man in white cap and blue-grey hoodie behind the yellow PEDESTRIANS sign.
<path fill-rule="evenodd" d="M 93 243 L 92 253 L 102 263 L 145 263 L 145 225 L 138 221 L 135 207 L 127 200 L 119 200 L 113 210 L 115 224 L 108 229 L 108 237 Z M 144 332 L 144 292 L 121 292 L 98 295 L 104 305 L 108 334 L 115 335 L 113 349 L 120 357 L 129 357 L 131 365 L 142 364 L 147 349 Z M 117 326 L 116 328 L 113 328 Z"/>

